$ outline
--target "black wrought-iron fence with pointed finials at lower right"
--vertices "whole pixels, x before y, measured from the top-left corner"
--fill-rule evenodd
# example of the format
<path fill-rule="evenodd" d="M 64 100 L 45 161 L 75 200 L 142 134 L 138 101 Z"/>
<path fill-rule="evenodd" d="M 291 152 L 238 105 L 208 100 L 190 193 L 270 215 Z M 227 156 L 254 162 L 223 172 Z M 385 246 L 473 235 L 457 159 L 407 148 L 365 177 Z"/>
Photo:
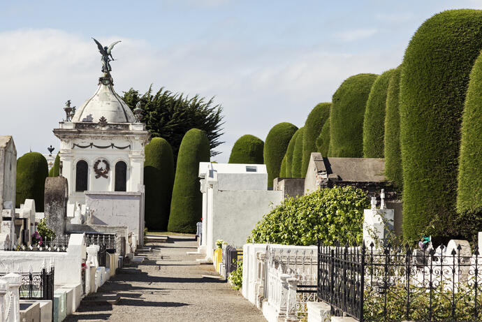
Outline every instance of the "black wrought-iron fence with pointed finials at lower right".
<path fill-rule="evenodd" d="M 358 321 L 481 321 L 482 256 L 458 247 L 318 245 L 318 297 Z"/>

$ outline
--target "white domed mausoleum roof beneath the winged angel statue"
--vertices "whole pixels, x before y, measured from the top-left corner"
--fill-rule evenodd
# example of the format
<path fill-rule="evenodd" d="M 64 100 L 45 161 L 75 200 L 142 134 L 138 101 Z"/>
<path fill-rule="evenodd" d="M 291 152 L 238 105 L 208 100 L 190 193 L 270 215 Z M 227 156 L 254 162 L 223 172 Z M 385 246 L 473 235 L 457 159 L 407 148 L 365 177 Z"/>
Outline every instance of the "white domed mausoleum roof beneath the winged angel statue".
<path fill-rule="evenodd" d="M 98 122 L 105 117 L 108 123 L 135 123 L 129 106 L 114 91 L 109 73 L 99 79 L 97 92 L 75 112 L 72 122 Z"/>

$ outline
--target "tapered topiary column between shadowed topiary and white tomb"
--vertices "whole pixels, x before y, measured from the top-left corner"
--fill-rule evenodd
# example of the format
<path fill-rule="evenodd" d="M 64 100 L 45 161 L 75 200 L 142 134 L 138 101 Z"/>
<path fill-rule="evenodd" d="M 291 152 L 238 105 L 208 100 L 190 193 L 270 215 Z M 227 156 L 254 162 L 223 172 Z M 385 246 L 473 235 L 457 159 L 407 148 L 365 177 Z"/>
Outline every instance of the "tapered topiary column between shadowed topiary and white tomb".
<path fill-rule="evenodd" d="M 199 129 L 187 131 L 177 158 L 173 199 L 170 204 L 168 230 L 195 233 L 200 221 L 203 196 L 198 177 L 199 163 L 210 161 L 210 145 L 206 133 Z"/>

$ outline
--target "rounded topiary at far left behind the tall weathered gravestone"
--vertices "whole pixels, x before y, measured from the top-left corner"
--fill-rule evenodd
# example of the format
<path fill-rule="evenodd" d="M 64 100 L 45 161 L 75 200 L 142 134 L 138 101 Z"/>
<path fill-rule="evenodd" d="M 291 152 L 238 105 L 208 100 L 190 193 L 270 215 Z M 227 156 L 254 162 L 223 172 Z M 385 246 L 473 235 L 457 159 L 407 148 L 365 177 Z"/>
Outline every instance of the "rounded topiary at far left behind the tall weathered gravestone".
<path fill-rule="evenodd" d="M 45 178 L 48 177 L 48 164 L 45 156 L 29 152 L 17 160 L 17 194 L 15 207 L 20 207 L 25 199 L 35 200 L 35 209 L 43 212 Z"/>

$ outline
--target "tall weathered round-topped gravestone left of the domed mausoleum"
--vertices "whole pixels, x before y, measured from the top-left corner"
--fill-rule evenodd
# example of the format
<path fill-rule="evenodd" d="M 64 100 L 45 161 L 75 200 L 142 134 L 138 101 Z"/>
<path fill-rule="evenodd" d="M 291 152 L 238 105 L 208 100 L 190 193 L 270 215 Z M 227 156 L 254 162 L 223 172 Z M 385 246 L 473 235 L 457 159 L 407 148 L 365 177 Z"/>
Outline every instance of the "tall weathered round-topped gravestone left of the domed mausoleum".
<path fill-rule="evenodd" d="M 68 183 L 65 177 L 45 179 L 44 213 L 48 228 L 64 235 L 67 220 Z"/>

